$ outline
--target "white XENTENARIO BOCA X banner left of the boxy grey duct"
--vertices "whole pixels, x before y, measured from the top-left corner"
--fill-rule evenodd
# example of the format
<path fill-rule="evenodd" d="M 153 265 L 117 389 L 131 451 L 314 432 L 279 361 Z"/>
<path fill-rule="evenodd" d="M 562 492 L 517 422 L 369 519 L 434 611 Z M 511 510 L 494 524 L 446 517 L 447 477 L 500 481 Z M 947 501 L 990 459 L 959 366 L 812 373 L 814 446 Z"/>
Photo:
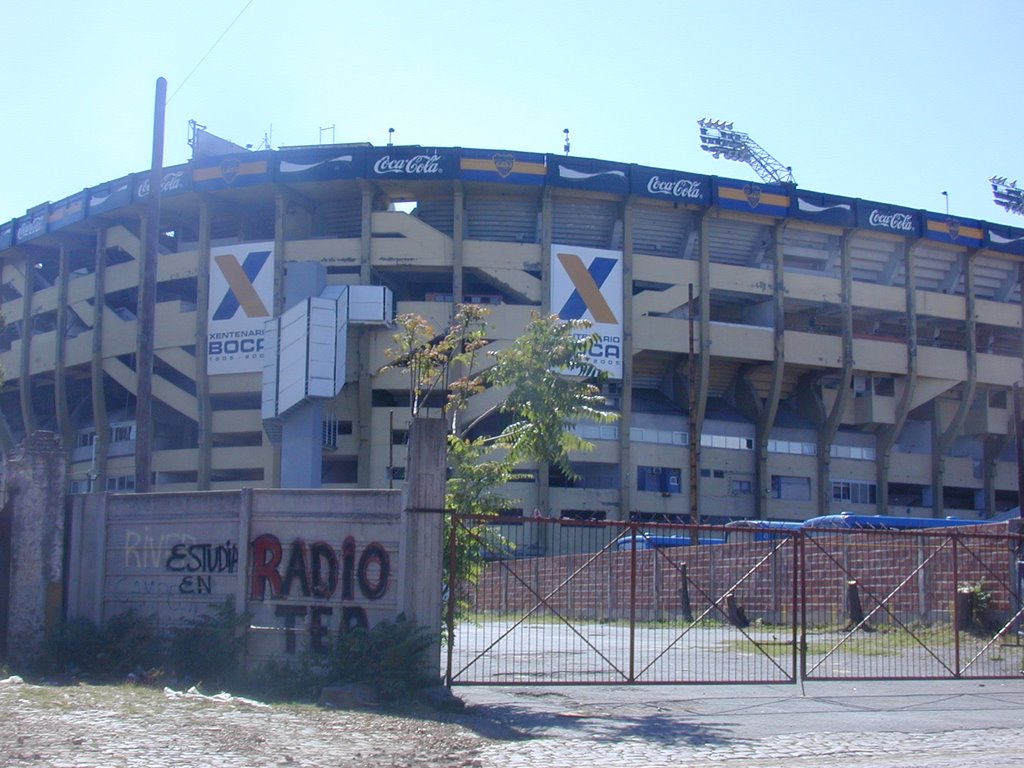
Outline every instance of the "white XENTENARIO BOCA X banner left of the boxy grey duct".
<path fill-rule="evenodd" d="M 210 250 L 207 373 L 263 370 L 263 333 L 273 311 L 273 243 Z"/>

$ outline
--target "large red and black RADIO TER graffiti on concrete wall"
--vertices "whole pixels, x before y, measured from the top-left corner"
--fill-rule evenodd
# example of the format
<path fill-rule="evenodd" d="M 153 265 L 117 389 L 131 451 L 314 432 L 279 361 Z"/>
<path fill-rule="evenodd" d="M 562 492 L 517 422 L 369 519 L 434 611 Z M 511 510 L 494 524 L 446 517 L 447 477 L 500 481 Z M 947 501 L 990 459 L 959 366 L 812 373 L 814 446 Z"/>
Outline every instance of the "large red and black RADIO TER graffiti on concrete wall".
<path fill-rule="evenodd" d="M 274 615 L 284 623 L 286 653 L 296 652 L 299 622 L 306 625 L 310 650 L 328 652 L 336 621 L 335 606 L 324 604 L 329 600 L 342 603 L 334 625 L 338 632 L 369 628 L 366 607 L 345 603 L 380 600 L 390 579 L 390 555 L 376 542 L 360 548 L 347 536 L 336 550 L 327 542 L 295 539 L 286 548 L 278 537 L 263 534 L 252 543 L 249 598 L 278 603 Z"/>

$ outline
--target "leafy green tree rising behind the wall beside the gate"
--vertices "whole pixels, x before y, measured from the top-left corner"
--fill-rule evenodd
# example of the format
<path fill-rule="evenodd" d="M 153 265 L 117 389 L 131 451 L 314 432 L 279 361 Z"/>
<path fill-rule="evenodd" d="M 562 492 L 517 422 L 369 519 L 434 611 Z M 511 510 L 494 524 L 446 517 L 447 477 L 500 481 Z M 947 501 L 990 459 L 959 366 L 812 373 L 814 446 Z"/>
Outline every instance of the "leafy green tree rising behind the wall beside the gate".
<path fill-rule="evenodd" d="M 450 468 L 445 508 L 482 516 L 508 509 L 511 500 L 498 488 L 516 479 L 522 464 L 548 462 L 575 477 L 569 455 L 590 451 L 593 444 L 572 426 L 617 418 L 602 410 L 604 401 L 594 383 L 603 373 L 587 356 L 597 338 L 586 333 L 589 323 L 534 312 L 510 346 L 484 352 L 488 313 L 479 305 L 460 305 L 443 335 L 419 315 L 399 315 L 397 346 L 387 350 L 392 362 L 382 369 L 408 372 L 413 418 L 424 407 L 443 409 Z M 487 387 L 501 387 L 507 395 L 501 404 L 462 424 L 460 416 L 469 398 Z M 482 425 L 496 416 L 505 426 L 484 432 Z M 452 524 L 451 518 L 447 523 Z M 457 534 L 461 579 L 473 581 L 478 572 L 481 542 L 505 546 L 482 524 Z"/>

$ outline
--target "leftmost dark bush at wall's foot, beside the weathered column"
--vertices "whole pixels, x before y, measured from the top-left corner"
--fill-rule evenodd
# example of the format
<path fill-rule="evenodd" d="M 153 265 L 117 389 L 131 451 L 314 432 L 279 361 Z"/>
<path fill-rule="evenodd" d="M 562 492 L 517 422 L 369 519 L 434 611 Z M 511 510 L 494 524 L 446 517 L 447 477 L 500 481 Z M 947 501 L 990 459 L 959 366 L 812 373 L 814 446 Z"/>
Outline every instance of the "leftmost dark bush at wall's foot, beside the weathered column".
<path fill-rule="evenodd" d="M 159 669 L 163 651 L 156 618 L 126 610 L 102 628 L 87 618 L 60 625 L 46 642 L 42 667 L 55 674 L 121 678 Z"/>

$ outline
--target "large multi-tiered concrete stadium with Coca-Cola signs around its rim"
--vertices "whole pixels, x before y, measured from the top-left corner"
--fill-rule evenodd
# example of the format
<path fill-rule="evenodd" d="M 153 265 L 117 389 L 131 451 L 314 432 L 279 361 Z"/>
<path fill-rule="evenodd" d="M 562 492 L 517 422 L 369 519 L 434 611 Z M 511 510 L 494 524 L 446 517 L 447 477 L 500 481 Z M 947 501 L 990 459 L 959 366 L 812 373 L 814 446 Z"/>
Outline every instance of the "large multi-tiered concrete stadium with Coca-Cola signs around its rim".
<path fill-rule="evenodd" d="M 163 174 L 151 378 L 148 179 L 0 225 L 0 438 L 56 433 L 71 493 L 135 489 L 139 456 L 155 492 L 396 487 L 410 398 L 379 373 L 390 321 L 441 329 L 471 302 L 494 348 L 532 311 L 601 337 L 621 418 L 574 426 L 595 446 L 578 477 L 524 468 L 507 489 L 524 516 L 988 519 L 1019 503 L 1024 229 L 568 155 L 194 157 Z M 316 368 L 286 343 L 298 305 L 300 341 L 321 310 L 337 339 L 322 387 L 293 375 Z"/>

